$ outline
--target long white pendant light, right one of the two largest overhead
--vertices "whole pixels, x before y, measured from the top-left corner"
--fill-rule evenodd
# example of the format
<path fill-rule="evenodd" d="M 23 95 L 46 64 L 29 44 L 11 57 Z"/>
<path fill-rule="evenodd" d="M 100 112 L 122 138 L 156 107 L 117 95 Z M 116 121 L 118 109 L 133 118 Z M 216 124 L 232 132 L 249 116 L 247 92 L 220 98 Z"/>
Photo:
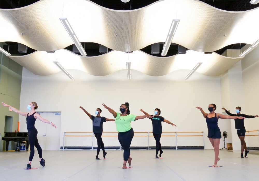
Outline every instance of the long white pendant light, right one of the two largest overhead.
<path fill-rule="evenodd" d="M 180 19 L 173 19 L 171 27 L 169 29 L 169 32 L 165 40 L 165 44 L 164 44 L 161 56 L 165 56 L 167 54 L 179 22 L 180 22 Z"/>

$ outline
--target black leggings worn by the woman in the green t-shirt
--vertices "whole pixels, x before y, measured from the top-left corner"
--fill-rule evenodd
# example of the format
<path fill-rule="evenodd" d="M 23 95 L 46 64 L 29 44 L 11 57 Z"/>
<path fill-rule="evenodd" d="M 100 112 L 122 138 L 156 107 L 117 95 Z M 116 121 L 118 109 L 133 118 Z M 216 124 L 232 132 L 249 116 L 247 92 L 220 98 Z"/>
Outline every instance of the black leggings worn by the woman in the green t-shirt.
<path fill-rule="evenodd" d="M 123 160 L 128 161 L 130 156 L 130 143 L 132 141 L 132 138 L 134 136 L 134 131 L 131 128 L 128 131 L 125 132 L 119 132 L 118 133 L 118 140 L 123 148 Z"/>

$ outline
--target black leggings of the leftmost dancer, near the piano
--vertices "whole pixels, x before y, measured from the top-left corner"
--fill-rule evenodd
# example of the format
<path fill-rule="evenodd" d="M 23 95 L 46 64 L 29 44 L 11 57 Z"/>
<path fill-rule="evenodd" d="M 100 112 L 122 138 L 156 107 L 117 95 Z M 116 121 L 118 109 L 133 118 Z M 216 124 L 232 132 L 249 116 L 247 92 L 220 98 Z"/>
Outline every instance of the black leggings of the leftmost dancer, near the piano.
<path fill-rule="evenodd" d="M 28 132 L 29 132 L 29 144 L 31 149 L 29 161 L 32 161 L 32 158 L 34 156 L 34 146 L 38 150 L 39 157 L 42 158 L 42 150 L 37 139 L 37 134 L 38 134 L 37 129 L 35 128 Z"/>

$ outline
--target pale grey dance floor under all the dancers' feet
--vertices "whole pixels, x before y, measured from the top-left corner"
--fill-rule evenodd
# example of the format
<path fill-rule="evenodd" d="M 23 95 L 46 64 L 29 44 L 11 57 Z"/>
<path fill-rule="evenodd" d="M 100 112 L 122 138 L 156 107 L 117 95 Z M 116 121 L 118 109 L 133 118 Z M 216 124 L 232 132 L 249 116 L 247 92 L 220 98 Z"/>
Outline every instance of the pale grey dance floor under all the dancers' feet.
<path fill-rule="evenodd" d="M 258 180 L 259 154 L 238 158 L 239 151 L 220 150 L 218 165 L 213 150 L 164 149 L 162 159 L 155 150 L 131 150 L 132 169 L 120 169 L 123 150 L 106 150 L 106 160 L 95 160 L 96 150 L 43 151 L 46 166 L 39 165 L 37 151 L 32 167 L 24 170 L 29 152 L 0 152 L 0 180 Z M 99 158 L 101 158 L 101 153 Z"/>

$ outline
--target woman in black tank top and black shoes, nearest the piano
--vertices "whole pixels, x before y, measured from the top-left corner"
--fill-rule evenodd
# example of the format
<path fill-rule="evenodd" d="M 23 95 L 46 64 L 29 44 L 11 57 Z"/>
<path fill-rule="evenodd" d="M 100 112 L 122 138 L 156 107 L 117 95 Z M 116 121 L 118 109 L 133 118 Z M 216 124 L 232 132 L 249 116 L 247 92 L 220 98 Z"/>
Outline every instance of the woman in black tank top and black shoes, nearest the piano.
<path fill-rule="evenodd" d="M 29 144 L 30 144 L 30 158 L 29 158 L 29 163 L 27 164 L 27 169 L 31 169 L 31 161 L 32 158 L 34 156 L 34 146 L 37 148 L 39 157 L 40 157 L 40 165 L 41 166 L 45 166 L 45 160 L 42 158 L 42 150 L 41 147 L 39 145 L 38 139 L 37 139 L 37 134 L 38 131 L 35 128 L 34 124 L 36 119 L 38 118 L 40 121 L 44 122 L 44 123 L 48 123 L 51 124 L 51 126 L 55 127 L 55 124 L 53 124 L 52 122 L 44 119 L 43 117 L 41 117 L 38 113 L 35 112 L 35 109 L 38 109 L 37 103 L 36 102 L 30 102 L 29 105 L 27 106 L 27 109 L 30 110 L 30 113 L 25 113 L 22 111 L 19 111 L 18 109 L 7 105 L 4 102 L 1 102 L 2 105 L 7 106 L 9 108 L 11 108 L 14 112 L 22 115 L 22 116 L 26 116 L 26 124 L 27 124 L 27 130 L 28 130 L 28 134 L 29 134 Z"/>

